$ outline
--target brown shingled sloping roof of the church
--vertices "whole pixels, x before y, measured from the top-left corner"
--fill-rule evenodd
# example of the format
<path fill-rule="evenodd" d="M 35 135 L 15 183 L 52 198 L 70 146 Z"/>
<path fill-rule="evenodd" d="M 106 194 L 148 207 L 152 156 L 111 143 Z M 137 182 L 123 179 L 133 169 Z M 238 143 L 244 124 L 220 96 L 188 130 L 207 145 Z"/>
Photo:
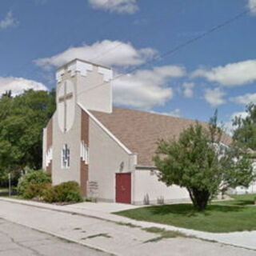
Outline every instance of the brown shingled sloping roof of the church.
<path fill-rule="evenodd" d="M 90 112 L 130 151 L 138 154 L 140 166 L 154 166 L 152 158 L 158 139 L 178 138 L 182 130 L 195 123 L 190 119 L 118 107 L 114 107 L 111 114 L 92 110 Z M 207 126 L 206 122 L 200 123 Z M 231 138 L 224 134 L 222 142 L 228 145 Z"/>

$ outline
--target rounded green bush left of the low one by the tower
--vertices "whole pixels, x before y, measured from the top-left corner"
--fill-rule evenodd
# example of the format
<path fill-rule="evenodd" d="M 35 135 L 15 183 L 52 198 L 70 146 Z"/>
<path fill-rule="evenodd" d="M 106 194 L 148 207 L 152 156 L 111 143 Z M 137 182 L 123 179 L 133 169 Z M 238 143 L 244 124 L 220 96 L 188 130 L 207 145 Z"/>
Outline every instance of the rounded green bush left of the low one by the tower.
<path fill-rule="evenodd" d="M 50 182 L 50 174 L 43 170 L 29 170 L 18 180 L 18 194 L 26 199 L 42 197 L 43 191 L 49 188 Z"/>

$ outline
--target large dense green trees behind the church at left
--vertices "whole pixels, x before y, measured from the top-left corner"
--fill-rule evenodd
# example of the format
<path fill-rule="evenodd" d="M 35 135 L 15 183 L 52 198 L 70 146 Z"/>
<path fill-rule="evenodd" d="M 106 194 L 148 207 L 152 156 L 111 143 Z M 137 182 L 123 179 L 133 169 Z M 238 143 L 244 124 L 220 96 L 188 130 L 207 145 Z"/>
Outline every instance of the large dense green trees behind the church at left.
<path fill-rule="evenodd" d="M 55 110 L 55 91 L 27 90 L 0 98 L 0 182 L 6 172 L 42 166 L 42 128 Z"/>

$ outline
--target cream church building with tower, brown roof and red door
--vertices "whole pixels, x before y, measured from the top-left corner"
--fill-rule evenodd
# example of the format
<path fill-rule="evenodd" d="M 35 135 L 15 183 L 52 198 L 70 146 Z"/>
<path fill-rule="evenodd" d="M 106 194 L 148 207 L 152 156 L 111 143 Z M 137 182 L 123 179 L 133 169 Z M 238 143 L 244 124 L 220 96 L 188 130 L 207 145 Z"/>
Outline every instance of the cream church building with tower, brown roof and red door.
<path fill-rule="evenodd" d="M 82 195 L 136 205 L 188 201 L 186 189 L 158 181 L 158 139 L 194 121 L 113 107 L 113 71 L 75 59 L 56 73 L 57 110 L 43 131 L 43 169 L 54 185 L 78 182 Z"/>

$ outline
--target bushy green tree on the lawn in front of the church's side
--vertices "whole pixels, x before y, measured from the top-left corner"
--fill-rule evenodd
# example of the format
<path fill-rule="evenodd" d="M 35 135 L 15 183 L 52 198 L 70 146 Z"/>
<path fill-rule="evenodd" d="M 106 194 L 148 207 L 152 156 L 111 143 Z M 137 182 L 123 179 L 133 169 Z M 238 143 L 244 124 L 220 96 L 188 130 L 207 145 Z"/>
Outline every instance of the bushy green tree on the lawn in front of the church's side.
<path fill-rule="evenodd" d="M 208 129 L 196 122 L 178 140 L 158 142 L 154 162 L 159 180 L 185 187 L 196 210 L 205 210 L 220 190 L 249 186 L 254 178 L 246 154 L 222 144 L 221 138 L 215 114 Z"/>

